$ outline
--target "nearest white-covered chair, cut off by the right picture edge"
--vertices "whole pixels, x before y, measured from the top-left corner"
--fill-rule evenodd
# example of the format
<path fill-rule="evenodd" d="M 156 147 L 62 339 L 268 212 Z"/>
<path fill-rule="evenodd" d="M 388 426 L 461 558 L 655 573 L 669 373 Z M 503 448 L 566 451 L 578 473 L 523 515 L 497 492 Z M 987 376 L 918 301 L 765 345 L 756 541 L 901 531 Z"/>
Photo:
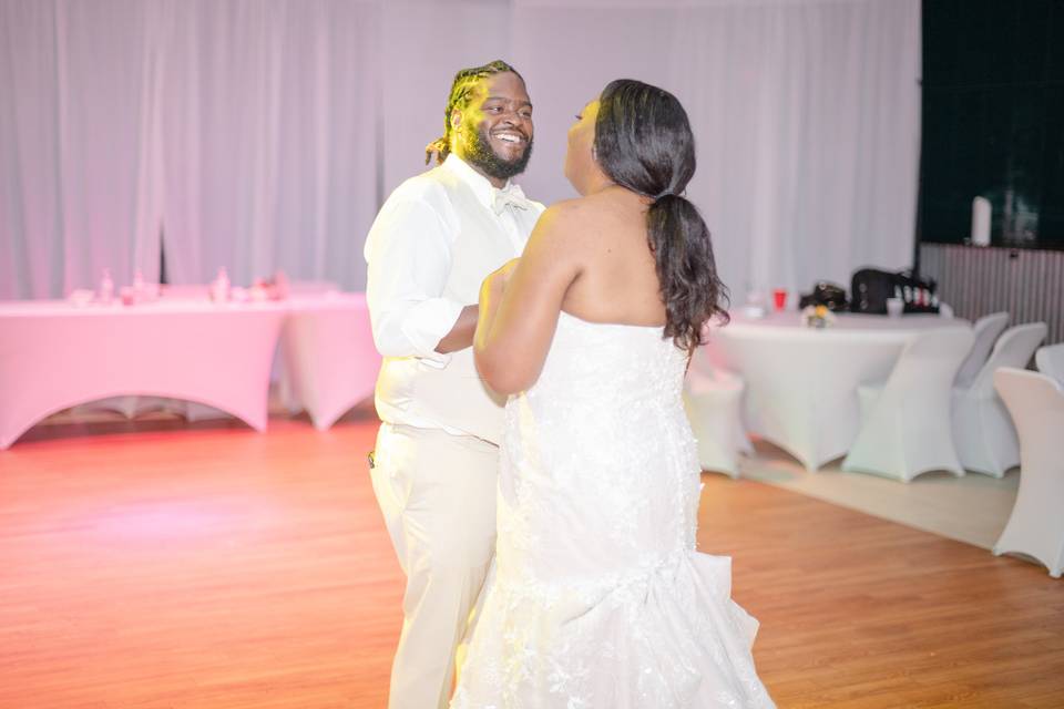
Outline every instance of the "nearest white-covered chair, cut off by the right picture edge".
<path fill-rule="evenodd" d="M 994 372 L 1020 433 L 1020 490 L 994 554 L 1021 552 L 1042 562 L 1050 576 L 1064 568 L 1064 390 L 1036 372 Z"/>

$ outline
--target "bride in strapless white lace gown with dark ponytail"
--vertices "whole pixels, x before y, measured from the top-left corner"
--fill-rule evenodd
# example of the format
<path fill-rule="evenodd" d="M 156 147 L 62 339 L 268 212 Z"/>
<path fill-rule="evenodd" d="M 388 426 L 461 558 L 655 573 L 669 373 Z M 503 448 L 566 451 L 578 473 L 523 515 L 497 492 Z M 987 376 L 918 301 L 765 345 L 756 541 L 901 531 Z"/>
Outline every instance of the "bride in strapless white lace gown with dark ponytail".
<path fill-rule="evenodd" d="M 581 197 L 484 281 L 474 353 L 509 393 L 493 576 L 451 707 L 771 707 L 730 559 L 695 551 L 698 463 L 681 399 L 724 315 L 683 197 L 683 106 L 618 80 L 569 132 Z"/>

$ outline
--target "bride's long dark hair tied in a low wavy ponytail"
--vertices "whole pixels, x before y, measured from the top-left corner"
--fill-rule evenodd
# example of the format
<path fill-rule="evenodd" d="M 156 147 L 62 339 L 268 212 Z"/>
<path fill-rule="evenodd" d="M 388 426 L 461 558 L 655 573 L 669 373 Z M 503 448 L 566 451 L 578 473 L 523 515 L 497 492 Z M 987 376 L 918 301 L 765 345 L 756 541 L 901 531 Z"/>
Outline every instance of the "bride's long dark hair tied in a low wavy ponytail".
<path fill-rule="evenodd" d="M 728 296 L 717 277 L 709 229 L 683 195 L 695 174 L 687 112 L 664 89 L 618 79 L 598 96 L 594 145 L 610 179 L 654 201 L 646 228 L 665 304 L 665 336 L 693 352 L 707 320 L 727 320 Z"/>

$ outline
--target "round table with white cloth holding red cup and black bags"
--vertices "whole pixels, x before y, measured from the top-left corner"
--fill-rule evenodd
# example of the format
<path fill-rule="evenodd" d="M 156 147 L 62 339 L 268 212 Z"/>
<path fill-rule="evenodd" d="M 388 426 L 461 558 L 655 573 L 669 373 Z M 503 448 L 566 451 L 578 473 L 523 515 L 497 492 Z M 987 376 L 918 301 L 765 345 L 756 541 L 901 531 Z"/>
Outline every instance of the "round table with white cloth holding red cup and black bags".
<path fill-rule="evenodd" d="M 857 388 L 883 381 L 906 343 L 921 332 L 969 328 L 960 318 L 838 314 L 810 328 L 796 311 L 764 318 L 733 312 L 704 346 L 716 367 L 746 381 L 745 423 L 808 470 L 845 455 L 860 429 Z"/>

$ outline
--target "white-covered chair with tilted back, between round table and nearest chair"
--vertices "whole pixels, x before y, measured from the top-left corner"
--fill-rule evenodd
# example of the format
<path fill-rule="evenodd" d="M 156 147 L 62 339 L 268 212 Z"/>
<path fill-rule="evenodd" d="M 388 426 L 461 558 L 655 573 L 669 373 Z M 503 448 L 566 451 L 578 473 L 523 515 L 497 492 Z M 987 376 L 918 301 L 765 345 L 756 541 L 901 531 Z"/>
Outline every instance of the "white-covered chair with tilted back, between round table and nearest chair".
<path fill-rule="evenodd" d="M 1044 322 L 1009 328 L 972 384 L 953 388 L 953 440 L 964 470 L 1001 477 L 1020 464 L 1020 440 L 994 391 L 994 372 L 1002 367 L 1024 369 L 1046 331 Z"/>

